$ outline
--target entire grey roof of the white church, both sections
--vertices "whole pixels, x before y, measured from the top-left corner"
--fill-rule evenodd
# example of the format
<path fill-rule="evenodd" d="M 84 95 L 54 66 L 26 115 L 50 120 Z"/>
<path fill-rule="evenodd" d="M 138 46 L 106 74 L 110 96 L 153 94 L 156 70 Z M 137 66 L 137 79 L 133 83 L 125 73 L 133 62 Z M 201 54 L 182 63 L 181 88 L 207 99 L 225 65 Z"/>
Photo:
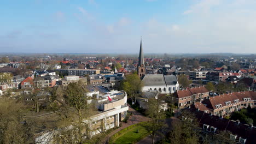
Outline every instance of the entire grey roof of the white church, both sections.
<path fill-rule="evenodd" d="M 165 86 L 176 85 L 177 77 L 175 75 L 145 75 L 142 79 L 144 86 Z"/>

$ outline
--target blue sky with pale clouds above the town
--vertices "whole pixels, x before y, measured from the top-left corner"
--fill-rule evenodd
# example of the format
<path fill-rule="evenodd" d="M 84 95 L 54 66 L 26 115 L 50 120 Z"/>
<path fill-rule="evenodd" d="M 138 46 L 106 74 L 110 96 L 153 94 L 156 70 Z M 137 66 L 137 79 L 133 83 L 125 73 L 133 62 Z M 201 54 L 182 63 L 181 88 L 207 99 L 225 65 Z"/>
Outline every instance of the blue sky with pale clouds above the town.
<path fill-rule="evenodd" d="M 255 0 L 3 0 L 0 52 L 256 53 Z"/>

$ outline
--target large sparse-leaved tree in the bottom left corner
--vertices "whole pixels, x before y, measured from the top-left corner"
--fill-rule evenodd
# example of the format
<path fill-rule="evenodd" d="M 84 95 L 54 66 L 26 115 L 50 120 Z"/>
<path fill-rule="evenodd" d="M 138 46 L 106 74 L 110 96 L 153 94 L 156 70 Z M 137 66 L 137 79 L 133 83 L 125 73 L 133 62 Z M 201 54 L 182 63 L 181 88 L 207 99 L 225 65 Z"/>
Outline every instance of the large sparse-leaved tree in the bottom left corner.
<path fill-rule="evenodd" d="M 0 99 L 0 144 L 33 143 L 33 119 L 24 119 L 25 106 L 11 98 Z"/>

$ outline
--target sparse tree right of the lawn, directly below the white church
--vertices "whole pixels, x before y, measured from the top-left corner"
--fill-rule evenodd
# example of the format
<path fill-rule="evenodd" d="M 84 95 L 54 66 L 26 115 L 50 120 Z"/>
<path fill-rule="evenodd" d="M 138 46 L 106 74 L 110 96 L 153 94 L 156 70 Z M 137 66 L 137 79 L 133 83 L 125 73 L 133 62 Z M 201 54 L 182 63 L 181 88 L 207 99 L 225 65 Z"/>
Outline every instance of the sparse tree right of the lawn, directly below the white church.
<path fill-rule="evenodd" d="M 148 131 L 152 131 L 150 134 L 152 136 L 152 144 L 154 143 L 154 139 L 156 134 L 162 134 L 158 133 L 158 130 L 162 130 L 164 128 L 164 119 L 165 119 L 165 111 L 162 110 L 162 101 L 164 100 L 164 97 L 158 98 L 150 98 L 148 99 L 148 106 L 146 113 L 150 117 L 150 120 L 148 121 Z"/>

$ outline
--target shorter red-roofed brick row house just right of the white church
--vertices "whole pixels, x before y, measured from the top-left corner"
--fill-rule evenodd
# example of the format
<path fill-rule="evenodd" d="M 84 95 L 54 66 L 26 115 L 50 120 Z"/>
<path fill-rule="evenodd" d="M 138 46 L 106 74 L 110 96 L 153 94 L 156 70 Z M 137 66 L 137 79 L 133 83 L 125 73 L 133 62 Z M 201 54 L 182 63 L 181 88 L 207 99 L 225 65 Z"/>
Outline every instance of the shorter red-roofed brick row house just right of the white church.
<path fill-rule="evenodd" d="M 195 87 L 186 88 L 181 91 L 174 92 L 172 100 L 174 103 L 178 104 L 178 107 L 185 107 L 196 103 L 197 101 L 202 101 L 210 98 L 208 89 L 205 87 Z"/>

